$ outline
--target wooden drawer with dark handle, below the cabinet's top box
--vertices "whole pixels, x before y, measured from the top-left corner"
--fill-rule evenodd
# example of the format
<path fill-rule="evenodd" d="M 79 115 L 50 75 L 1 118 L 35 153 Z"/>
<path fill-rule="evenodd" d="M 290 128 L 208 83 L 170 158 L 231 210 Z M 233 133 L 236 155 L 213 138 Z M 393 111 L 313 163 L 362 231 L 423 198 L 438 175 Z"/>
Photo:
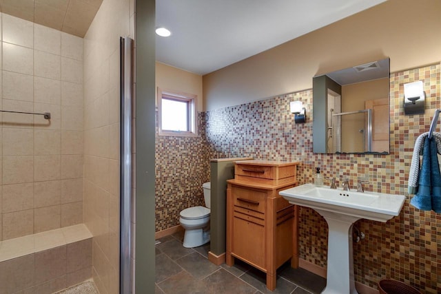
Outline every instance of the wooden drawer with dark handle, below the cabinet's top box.
<path fill-rule="evenodd" d="M 265 202 L 267 199 L 265 192 L 233 187 L 232 196 L 235 206 L 265 213 Z"/>

